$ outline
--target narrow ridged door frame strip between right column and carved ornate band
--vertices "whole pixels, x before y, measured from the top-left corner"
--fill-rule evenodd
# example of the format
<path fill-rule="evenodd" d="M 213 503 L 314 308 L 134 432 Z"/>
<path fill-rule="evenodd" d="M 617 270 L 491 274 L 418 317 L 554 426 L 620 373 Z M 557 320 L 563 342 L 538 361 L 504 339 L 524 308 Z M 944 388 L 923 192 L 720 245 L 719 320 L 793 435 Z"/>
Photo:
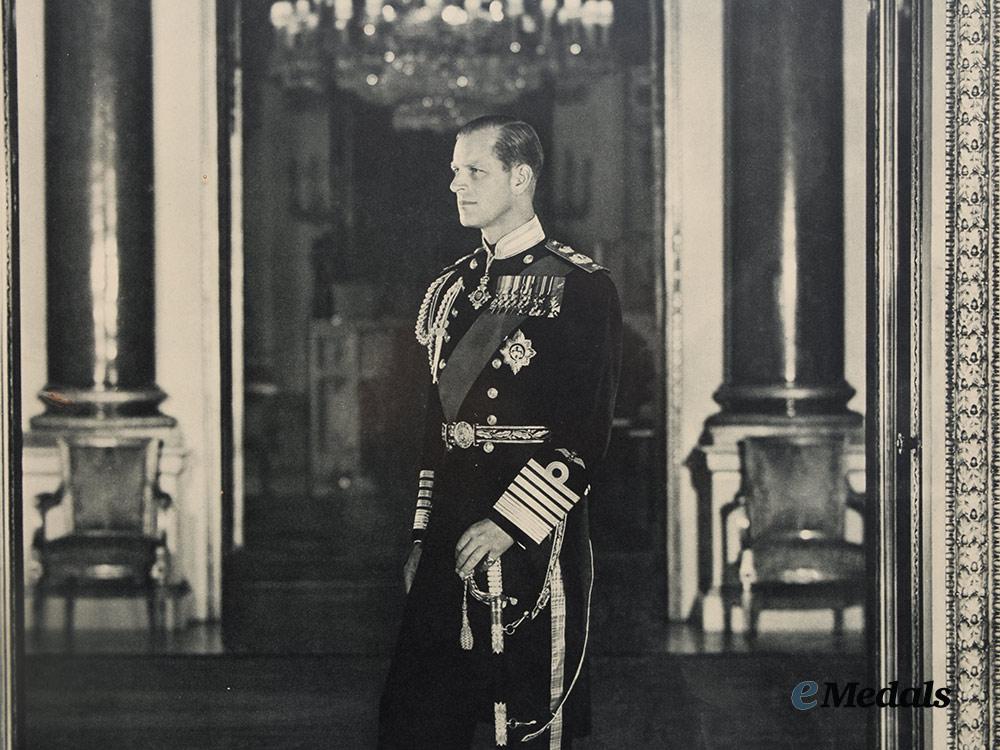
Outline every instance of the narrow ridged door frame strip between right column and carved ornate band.
<path fill-rule="evenodd" d="M 877 0 L 868 13 L 867 407 L 865 636 L 872 686 L 920 685 L 926 512 L 924 413 L 930 189 L 924 137 L 925 0 Z M 868 744 L 924 744 L 924 711 L 880 710 Z"/>

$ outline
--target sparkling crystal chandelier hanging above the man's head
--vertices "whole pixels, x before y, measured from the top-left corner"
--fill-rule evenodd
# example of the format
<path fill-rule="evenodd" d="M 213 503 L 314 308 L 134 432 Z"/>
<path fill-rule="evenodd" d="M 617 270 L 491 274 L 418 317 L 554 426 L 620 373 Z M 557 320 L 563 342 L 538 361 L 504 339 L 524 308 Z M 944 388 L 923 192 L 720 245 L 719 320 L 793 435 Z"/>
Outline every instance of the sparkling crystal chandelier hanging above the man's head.
<path fill-rule="evenodd" d="M 390 107 L 397 129 L 451 129 L 607 70 L 613 19 L 612 0 L 281 0 L 273 72 Z"/>

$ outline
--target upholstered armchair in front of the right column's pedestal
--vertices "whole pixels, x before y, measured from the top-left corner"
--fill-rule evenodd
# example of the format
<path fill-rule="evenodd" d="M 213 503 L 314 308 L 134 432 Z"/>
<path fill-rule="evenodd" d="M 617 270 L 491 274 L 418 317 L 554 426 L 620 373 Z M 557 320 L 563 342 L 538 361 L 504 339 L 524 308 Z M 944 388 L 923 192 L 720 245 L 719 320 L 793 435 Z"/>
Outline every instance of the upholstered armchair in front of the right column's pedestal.
<path fill-rule="evenodd" d="M 735 555 L 724 550 L 727 626 L 736 604 L 750 636 L 763 609 L 829 608 L 839 635 L 844 609 L 863 603 L 864 548 L 844 530 L 848 512 L 863 515 L 864 496 L 848 484 L 845 448 L 833 436 L 741 441 L 741 487 L 722 510 L 738 538 Z"/>

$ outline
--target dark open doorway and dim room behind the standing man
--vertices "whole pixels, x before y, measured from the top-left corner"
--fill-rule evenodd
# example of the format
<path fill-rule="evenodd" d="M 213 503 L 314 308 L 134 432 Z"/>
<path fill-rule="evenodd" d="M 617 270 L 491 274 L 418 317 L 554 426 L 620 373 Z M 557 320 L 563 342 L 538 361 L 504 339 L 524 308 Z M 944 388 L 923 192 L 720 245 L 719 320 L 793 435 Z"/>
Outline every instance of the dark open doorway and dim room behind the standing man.
<path fill-rule="evenodd" d="M 415 311 L 436 271 L 479 237 L 459 225 L 448 191 L 456 124 L 419 106 L 414 123 L 405 106 L 359 95 L 336 60 L 318 73 L 304 65 L 307 38 L 282 36 L 280 5 L 243 0 L 238 25 L 245 512 L 244 544 L 225 568 L 226 645 L 381 652 L 402 602 L 415 498 L 426 387 Z M 608 266 L 619 288 L 624 376 L 593 537 L 606 571 L 644 571 L 649 585 L 636 596 L 657 617 L 666 611 L 662 76 L 650 30 L 660 5 L 617 4 L 600 65 L 528 71 L 531 85 L 496 107 L 541 135 L 538 213 L 549 234 Z M 455 65 L 455 80 L 465 77 Z M 337 75 L 323 73 L 331 67 Z"/>

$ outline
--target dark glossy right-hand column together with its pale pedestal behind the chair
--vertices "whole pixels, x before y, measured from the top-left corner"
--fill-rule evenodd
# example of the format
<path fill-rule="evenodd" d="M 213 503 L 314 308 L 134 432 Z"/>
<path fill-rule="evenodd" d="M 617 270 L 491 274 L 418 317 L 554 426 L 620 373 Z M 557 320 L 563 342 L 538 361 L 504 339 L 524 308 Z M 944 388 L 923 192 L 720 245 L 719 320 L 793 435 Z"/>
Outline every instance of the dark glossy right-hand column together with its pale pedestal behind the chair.
<path fill-rule="evenodd" d="M 847 408 L 854 389 L 844 379 L 842 21 L 841 0 L 725 3 L 724 382 L 690 463 L 709 532 L 706 630 L 724 626 L 720 587 L 733 559 L 723 559 L 723 540 L 735 552 L 736 530 L 723 528 L 722 509 L 739 487 L 740 440 L 846 437 L 862 489 L 861 416 Z M 847 521 L 855 540 L 859 523 Z M 737 610 L 734 630 L 740 620 Z"/>

